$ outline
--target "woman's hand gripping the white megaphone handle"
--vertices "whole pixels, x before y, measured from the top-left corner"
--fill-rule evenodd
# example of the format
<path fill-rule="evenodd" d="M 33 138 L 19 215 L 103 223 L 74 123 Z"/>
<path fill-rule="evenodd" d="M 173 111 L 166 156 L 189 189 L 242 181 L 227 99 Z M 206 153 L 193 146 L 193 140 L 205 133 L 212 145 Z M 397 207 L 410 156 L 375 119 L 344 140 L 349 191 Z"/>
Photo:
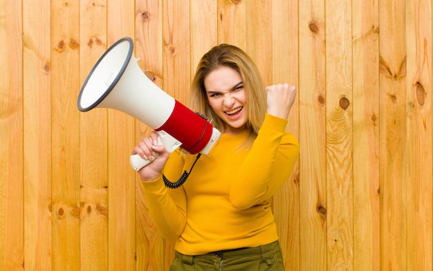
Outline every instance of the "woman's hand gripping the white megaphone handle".
<path fill-rule="evenodd" d="M 155 180 L 163 173 L 169 152 L 164 145 L 158 145 L 157 142 L 158 134 L 153 131 L 149 138 L 143 138 L 132 150 L 132 154 L 138 154 L 141 158 L 151 160 L 148 165 L 137 171 L 141 180 Z"/>

